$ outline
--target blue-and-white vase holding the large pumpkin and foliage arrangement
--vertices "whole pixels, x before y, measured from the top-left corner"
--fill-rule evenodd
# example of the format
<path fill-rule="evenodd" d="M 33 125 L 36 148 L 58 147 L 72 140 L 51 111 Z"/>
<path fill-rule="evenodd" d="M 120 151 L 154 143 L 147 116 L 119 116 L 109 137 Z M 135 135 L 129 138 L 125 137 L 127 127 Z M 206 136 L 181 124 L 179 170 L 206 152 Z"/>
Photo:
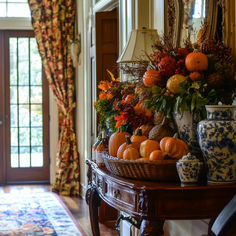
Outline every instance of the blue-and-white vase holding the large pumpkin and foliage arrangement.
<path fill-rule="evenodd" d="M 179 138 L 189 147 L 189 152 L 199 156 L 201 149 L 197 140 L 197 124 L 200 121 L 197 114 L 184 111 L 182 114 L 173 112 L 173 118 L 178 130 Z"/>

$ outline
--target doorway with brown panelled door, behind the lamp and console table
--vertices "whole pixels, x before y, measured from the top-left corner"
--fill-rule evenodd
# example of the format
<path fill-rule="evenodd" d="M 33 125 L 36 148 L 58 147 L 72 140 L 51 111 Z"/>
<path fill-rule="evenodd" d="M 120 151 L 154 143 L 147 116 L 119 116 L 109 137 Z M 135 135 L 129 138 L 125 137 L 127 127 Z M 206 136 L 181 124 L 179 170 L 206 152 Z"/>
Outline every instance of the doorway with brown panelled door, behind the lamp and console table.
<path fill-rule="evenodd" d="M 93 102 L 97 100 L 98 84 L 110 80 L 107 70 L 117 78 L 116 60 L 118 59 L 118 11 L 96 12 L 90 29 L 90 71 L 91 71 L 91 139 L 94 140 L 99 130 L 97 114 Z M 90 150 L 92 148 L 90 147 Z M 99 222 L 114 228 L 118 216 L 117 210 L 101 201 Z"/>

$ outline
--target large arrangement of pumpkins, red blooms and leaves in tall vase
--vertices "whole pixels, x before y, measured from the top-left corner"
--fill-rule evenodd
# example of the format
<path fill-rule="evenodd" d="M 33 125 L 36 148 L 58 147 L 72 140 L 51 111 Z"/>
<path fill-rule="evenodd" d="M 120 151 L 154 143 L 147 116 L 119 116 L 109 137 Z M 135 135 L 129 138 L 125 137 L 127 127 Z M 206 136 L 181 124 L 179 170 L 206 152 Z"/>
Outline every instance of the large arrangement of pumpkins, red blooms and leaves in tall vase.
<path fill-rule="evenodd" d="M 222 42 L 186 41 L 183 48 L 174 48 L 165 40 L 158 41 L 150 67 L 158 71 L 161 81 L 156 83 L 160 92 L 146 100 L 152 111 L 169 116 L 173 111 L 189 110 L 204 119 L 206 104 L 232 104 L 235 98 L 231 50 Z"/>

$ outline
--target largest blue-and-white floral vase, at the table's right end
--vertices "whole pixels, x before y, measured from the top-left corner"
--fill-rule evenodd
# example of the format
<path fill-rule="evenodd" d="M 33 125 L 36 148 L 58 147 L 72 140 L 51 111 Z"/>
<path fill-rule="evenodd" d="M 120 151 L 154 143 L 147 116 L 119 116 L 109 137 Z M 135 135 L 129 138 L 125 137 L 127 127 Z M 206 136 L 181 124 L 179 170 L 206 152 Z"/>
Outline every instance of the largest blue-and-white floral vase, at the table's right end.
<path fill-rule="evenodd" d="M 198 141 L 208 183 L 236 182 L 236 106 L 206 105 L 207 120 L 198 124 Z"/>

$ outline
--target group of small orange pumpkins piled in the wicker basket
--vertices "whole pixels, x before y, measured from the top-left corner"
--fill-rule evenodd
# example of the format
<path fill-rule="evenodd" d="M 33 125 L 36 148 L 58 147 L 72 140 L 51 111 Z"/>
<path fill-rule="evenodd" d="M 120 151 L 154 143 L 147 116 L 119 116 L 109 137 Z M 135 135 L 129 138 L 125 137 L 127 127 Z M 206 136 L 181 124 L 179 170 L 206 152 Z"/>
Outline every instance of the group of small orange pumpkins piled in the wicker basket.
<path fill-rule="evenodd" d="M 142 131 L 143 128 L 143 131 Z M 109 155 L 125 160 L 162 161 L 180 159 L 188 153 L 187 144 L 177 137 L 163 137 L 160 142 L 148 139 L 148 129 L 139 128 L 132 136 L 118 131 L 109 139 Z"/>

